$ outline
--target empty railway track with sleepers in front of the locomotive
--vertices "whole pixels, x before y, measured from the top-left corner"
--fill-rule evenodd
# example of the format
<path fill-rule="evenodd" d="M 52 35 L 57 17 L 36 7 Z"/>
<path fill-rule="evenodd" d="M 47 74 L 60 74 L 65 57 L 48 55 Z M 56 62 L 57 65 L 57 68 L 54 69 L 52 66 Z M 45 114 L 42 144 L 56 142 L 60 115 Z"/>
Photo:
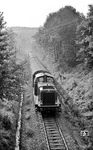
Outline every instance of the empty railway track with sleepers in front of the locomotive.
<path fill-rule="evenodd" d="M 55 117 L 43 116 L 48 150 L 69 150 Z"/>

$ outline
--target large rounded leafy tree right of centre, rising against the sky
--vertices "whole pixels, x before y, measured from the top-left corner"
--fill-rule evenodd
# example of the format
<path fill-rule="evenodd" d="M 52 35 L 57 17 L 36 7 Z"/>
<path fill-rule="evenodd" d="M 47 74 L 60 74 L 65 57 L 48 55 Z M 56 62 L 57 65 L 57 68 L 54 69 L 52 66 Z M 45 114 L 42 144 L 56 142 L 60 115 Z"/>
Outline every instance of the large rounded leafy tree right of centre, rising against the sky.
<path fill-rule="evenodd" d="M 49 14 L 44 27 L 39 29 L 37 41 L 54 55 L 55 61 L 59 61 L 63 68 L 74 67 L 77 64 L 76 27 L 82 18 L 84 16 L 73 7 L 66 6 Z"/>

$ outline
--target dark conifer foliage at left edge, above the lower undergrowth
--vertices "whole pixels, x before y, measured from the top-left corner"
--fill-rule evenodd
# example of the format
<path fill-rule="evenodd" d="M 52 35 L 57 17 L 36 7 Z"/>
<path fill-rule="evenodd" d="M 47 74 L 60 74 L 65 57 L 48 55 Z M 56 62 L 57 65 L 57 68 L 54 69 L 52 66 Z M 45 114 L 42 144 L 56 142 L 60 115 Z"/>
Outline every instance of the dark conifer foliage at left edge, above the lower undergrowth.
<path fill-rule="evenodd" d="M 0 13 L 0 98 L 8 100 L 17 99 L 21 90 L 22 68 L 16 64 L 13 37 L 13 32 L 5 27 L 3 13 Z"/>

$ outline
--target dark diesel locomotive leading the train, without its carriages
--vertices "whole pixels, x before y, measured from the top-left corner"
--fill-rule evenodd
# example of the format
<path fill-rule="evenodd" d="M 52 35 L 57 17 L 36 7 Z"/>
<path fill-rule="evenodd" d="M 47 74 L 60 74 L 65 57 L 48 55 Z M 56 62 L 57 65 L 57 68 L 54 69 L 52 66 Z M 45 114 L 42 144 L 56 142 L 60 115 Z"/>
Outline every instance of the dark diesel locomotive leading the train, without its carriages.
<path fill-rule="evenodd" d="M 60 107 L 54 78 L 49 73 L 37 73 L 34 77 L 34 101 L 40 109 L 55 109 Z"/>

